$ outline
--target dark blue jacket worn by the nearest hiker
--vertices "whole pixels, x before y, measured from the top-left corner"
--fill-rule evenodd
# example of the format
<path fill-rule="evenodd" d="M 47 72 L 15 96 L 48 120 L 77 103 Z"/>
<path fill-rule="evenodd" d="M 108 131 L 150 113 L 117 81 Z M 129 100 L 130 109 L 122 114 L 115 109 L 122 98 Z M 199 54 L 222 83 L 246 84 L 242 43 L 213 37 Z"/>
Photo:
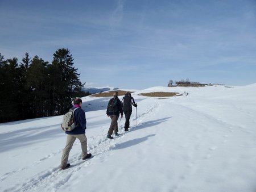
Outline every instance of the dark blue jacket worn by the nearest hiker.
<path fill-rule="evenodd" d="M 73 107 L 74 109 L 76 107 Z M 76 128 L 72 131 L 66 131 L 69 135 L 79 135 L 79 134 L 85 134 L 86 130 L 86 118 L 85 118 L 85 112 L 82 110 L 82 108 L 77 108 L 75 111 L 75 120 L 76 120 Z"/>

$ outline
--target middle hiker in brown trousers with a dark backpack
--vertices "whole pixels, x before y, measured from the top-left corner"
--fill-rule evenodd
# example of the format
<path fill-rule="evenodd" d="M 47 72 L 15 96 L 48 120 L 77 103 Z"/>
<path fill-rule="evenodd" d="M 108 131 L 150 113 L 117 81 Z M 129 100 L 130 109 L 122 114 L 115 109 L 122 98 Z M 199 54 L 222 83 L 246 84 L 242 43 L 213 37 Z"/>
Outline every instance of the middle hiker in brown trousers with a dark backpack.
<path fill-rule="evenodd" d="M 106 111 L 108 117 L 111 118 L 111 124 L 107 135 L 109 139 L 114 139 L 114 137 L 112 137 L 113 131 L 115 131 L 115 135 L 118 135 L 117 120 L 119 118 L 119 114 L 121 114 L 121 118 L 123 118 L 122 103 L 118 98 L 118 92 L 115 91 L 113 96 L 114 97 L 109 100 L 108 108 Z"/>

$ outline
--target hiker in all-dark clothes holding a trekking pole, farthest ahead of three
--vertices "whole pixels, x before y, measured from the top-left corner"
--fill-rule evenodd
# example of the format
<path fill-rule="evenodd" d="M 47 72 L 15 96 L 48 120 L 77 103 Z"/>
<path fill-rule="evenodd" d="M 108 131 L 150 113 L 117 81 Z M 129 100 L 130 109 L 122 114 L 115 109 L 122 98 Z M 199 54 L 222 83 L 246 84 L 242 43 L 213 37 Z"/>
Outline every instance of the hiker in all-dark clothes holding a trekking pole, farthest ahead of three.
<path fill-rule="evenodd" d="M 128 128 L 130 127 L 130 117 L 131 112 L 133 111 L 132 106 L 137 107 L 137 104 L 134 101 L 134 98 L 131 97 L 131 93 L 128 91 L 125 94 L 125 97 L 122 99 L 122 107 L 123 107 L 123 113 L 125 114 L 125 131 L 128 131 Z"/>

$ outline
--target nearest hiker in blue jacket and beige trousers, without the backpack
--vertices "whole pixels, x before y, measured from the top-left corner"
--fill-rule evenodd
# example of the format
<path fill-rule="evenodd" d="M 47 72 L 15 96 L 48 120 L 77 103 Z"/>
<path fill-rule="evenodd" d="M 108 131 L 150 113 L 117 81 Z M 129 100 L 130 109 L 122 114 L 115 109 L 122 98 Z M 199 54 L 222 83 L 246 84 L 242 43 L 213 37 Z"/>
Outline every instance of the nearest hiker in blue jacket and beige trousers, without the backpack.
<path fill-rule="evenodd" d="M 68 156 L 76 139 L 79 139 L 81 142 L 82 160 L 86 160 L 92 156 L 91 153 L 87 153 L 87 138 L 85 136 L 86 118 L 85 118 L 85 112 L 81 108 L 82 99 L 76 98 L 73 103 L 74 105 L 72 109 L 77 108 L 74 112 L 75 122 L 77 126 L 74 130 L 65 132 L 67 133 L 67 142 L 66 142 L 65 148 L 63 149 L 63 155 L 61 157 L 61 164 L 60 164 L 61 169 L 69 168 L 70 164 L 67 164 Z"/>

